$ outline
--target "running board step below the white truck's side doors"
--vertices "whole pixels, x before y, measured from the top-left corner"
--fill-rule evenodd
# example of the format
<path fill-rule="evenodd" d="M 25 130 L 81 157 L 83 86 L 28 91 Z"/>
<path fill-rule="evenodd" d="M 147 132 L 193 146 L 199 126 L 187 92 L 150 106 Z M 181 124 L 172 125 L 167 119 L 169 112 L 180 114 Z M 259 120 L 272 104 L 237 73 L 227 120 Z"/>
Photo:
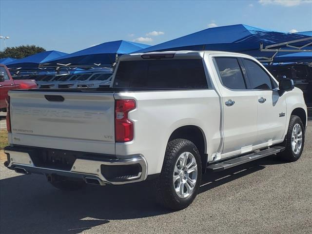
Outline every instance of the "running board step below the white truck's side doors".
<path fill-rule="evenodd" d="M 239 156 L 236 158 L 229 159 L 223 162 L 212 163 L 207 166 L 207 170 L 211 170 L 213 172 L 223 171 L 225 169 L 229 169 L 231 167 L 235 167 L 247 162 L 251 162 L 257 160 L 262 157 L 270 156 L 282 152 L 285 150 L 284 146 L 274 146 L 272 148 L 262 150 L 256 153 L 252 153 L 249 155 Z"/>

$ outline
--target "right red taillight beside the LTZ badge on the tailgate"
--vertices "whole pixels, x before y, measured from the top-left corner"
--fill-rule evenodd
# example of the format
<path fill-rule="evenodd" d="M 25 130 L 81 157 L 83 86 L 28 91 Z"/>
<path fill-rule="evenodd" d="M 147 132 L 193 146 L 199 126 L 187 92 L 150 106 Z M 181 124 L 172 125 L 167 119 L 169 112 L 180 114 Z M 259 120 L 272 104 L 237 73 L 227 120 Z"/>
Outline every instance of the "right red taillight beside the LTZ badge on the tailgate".
<path fill-rule="evenodd" d="M 129 111 L 136 108 L 136 101 L 121 99 L 115 101 L 115 140 L 126 142 L 133 140 L 133 122 L 128 118 Z"/>

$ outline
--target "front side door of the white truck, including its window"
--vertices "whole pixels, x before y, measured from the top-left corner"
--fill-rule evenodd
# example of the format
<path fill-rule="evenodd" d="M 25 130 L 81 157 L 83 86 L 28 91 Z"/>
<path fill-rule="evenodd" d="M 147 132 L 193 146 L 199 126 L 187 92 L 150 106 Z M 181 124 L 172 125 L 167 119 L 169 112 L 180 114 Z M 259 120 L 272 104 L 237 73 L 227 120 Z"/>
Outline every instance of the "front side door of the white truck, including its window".
<path fill-rule="evenodd" d="M 286 100 L 277 91 L 273 78 L 251 59 L 241 59 L 247 73 L 248 89 L 257 97 L 258 136 L 255 144 L 270 146 L 282 139 L 286 125 Z"/>

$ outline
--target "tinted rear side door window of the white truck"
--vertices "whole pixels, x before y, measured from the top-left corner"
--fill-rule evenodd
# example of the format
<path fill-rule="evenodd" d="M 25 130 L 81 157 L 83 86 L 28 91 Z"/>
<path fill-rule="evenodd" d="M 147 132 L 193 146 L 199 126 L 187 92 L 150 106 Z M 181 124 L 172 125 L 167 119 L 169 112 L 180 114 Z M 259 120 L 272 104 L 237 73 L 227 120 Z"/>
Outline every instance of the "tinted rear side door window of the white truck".
<path fill-rule="evenodd" d="M 246 89 L 245 79 L 236 58 L 215 58 L 222 83 L 229 89 Z"/>

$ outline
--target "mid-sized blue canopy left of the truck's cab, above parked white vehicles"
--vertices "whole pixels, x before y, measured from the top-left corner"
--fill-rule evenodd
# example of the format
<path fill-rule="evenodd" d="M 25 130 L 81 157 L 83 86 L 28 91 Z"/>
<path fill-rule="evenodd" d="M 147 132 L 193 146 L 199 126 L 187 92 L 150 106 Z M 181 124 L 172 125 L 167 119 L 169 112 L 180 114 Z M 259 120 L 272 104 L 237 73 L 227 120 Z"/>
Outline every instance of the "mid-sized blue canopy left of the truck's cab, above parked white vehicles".
<path fill-rule="evenodd" d="M 149 46 L 150 45 L 126 40 L 110 41 L 77 51 L 58 59 L 45 61 L 40 66 L 112 66 L 112 64 L 116 62 L 116 56 L 129 54 Z"/>

